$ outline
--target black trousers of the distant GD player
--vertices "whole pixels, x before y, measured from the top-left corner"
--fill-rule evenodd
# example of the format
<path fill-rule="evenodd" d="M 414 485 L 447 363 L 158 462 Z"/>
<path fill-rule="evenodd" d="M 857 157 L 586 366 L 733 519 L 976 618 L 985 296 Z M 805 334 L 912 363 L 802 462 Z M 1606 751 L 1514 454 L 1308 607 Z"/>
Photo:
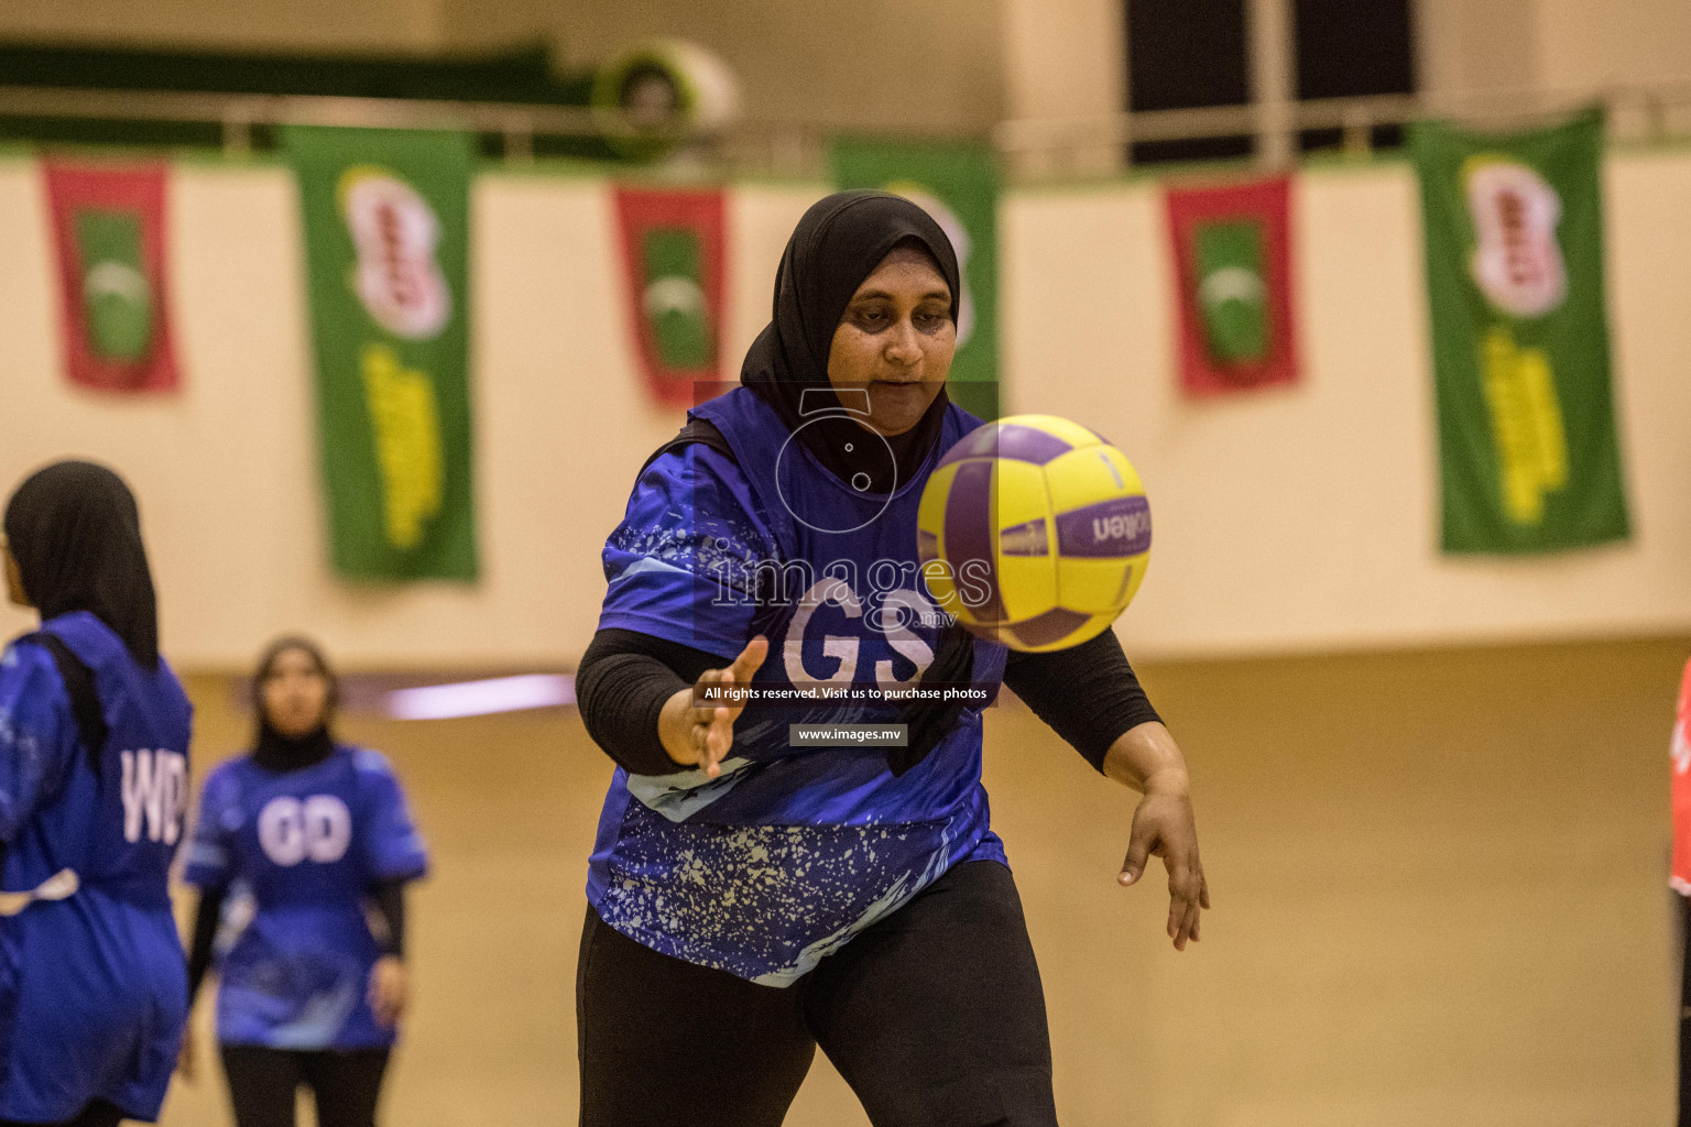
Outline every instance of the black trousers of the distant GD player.
<path fill-rule="evenodd" d="M 294 1127 L 294 1095 L 311 1088 L 318 1127 L 375 1127 L 387 1049 L 296 1053 L 225 1044 L 223 1075 L 237 1127 Z"/>

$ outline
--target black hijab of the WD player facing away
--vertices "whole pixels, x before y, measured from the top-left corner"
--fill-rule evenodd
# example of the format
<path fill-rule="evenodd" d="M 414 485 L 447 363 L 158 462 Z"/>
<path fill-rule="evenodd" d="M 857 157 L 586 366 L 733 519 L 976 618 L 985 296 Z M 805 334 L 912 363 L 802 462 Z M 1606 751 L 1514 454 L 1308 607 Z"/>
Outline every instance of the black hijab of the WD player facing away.
<path fill-rule="evenodd" d="M 152 571 L 123 478 L 88 461 L 37 470 L 5 507 L 5 537 L 42 620 L 86 610 L 142 667 L 159 667 Z"/>

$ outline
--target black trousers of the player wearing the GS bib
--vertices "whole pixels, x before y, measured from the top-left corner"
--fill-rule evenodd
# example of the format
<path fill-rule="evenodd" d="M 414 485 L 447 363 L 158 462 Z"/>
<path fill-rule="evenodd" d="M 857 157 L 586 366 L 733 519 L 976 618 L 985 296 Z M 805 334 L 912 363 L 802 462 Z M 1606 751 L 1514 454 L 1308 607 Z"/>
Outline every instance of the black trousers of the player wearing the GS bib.
<path fill-rule="evenodd" d="M 996 862 L 952 868 L 786 988 L 588 909 L 575 999 L 582 1127 L 778 1127 L 818 1044 L 876 1127 L 1057 1125 L 1040 972 Z"/>

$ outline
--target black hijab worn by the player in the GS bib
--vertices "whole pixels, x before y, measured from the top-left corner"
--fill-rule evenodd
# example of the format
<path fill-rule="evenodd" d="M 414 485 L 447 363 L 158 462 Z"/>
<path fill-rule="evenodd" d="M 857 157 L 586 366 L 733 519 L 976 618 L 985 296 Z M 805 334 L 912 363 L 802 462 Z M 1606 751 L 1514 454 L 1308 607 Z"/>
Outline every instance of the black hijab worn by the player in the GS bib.
<path fill-rule="evenodd" d="M 869 475 L 869 493 L 888 493 L 910 482 L 933 449 L 945 421 L 945 392 L 903 434 L 888 434 L 893 461 L 879 443 L 852 441 L 862 427 L 840 409 L 829 384 L 829 351 L 852 294 L 898 245 L 927 252 L 950 286 L 952 324 L 962 297 L 957 253 L 933 218 L 903 196 L 881 191 L 842 191 L 817 201 L 793 228 L 774 275 L 774 318 L 746 353 L 741 384 L 768 402 L 788 431 L 807 416 L 805 446 L 842 482 Z M 808 394 L 807 394 L 808 392 Z M 852 446 L 852 451 L 846 448 Z"/>

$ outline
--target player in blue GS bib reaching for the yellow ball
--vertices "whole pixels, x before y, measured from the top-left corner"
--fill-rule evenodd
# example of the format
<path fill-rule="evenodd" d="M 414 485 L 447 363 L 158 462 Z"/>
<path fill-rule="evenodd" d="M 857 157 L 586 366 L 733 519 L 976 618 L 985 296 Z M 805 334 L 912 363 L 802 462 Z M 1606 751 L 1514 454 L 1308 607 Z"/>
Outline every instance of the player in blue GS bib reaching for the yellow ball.
<path fill-rule="evenodd" d="M 999 683 L 1143 791 L 1121 880 L 1162 855 L 1168 936 L 1199 934 L 1185 764 L 1114 634 L 1010 654 L 922 581 L 923 485 L 981 426 L 944 390 L 960 292 L 917 204 L 817 203 L 742 385 L 648 461 L 605 544 L 578 674 L 617 762 L 578 968 L 583 1127 L 774 1127 L 818 1044 L 876 1127 L 1057 1122 L 1038 968 L 981 786 Z M 761 700 L 710 696 L 724 686 Z M 964 694 L 910 696 L 944 686 Z M 876 723 L 906 743 L 849 742 Z"/>

